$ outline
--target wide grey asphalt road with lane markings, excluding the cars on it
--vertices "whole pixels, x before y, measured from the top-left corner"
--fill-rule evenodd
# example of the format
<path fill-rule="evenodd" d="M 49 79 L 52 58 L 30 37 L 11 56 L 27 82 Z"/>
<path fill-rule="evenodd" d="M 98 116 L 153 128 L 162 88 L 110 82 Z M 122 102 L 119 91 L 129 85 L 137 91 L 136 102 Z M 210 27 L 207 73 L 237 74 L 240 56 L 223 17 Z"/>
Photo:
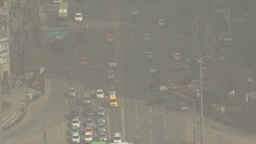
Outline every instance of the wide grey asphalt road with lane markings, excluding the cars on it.
<path fill-rule="evenodd" d="M 118 6 L 118 9 L 112 9 L 113 5 Z M 142 11 L 140 16 L 130 16 L 130 8 L 133 7 Z M 73 16 L 76 12 L 83 14 L 83 22 L 74 22 Z M 57 25 L 56 16 L 48 16 L 48 26 Z M 163 82 L 167 78 L 176 80 L 185 75 L 184 69 L 172 70 L 172 55 L 180 52 L 181 47 L 176 1 L 74 1 L 69 2 L 69 18 L 70 26 L 64 40 L 64 50 L 52 51 L 51 43 L 45 42 L 45 52 L 53 54 L 44 61 L 48 96 L 38 102 L 28 120 L 18 130 L 9 132 L 5 138 L 15 136 L 16 140 L 21 140 L 39 134 L 44 129 L 44 117 L 48 129 L 63 122 L 68 123 L 69 129 L 68 115 L 73 108 L 81 112 L 84 125 L 84 106 L 80 105 L 82 94 L 94 93 L 96 89 L 106 92 L 114 83 L 106 78 L 108 60 L 116 58 L 119 107 L 107 108 L 108 97 L 104 100 L 94 99 L 91 106 L 95 110 L 100 106 L 106 108 L 106 133 L 110 140 L 115 132 L 121 132 L 124 140 L 137 144 L 186 142 L 185 120 L 190 112 L 177 112 L 174 108 L 177 102 L 183 102 L 184 99 L 168 91 L 148 90 L 147 84 L 149 79 Z M 156 27 L 156 20 L 159 18 L 166 20 L 166 27 Z M 76 42 L 76 34 L 80 29 L 86 30 L 86 42 Z M 114 44 L 105 41 L 109 32 L 116 38 Z M 150 32 L 153 36 L 152 42 L 144 42 L 143 32 Z M 154 52 L 154 60 L 145 60 L 146 51 Z M 90 68 L 79 66 L 81 57 L 88 58 Z M 157 74 L 148 74 L 151 65 L 158 68 Z M 76 98 L 65 95 L 70 87 L 77 90 Z M 166 104 L 146 106 L 145 103 L 150 97 L 163 97 Z M 159 114 L 149 114 L 149 110 L 158 111 Z M 70 142 L 68 132 L 64 134 L 67 142 Z M 96 136 L 94 134 L 94 138 Z"/>

